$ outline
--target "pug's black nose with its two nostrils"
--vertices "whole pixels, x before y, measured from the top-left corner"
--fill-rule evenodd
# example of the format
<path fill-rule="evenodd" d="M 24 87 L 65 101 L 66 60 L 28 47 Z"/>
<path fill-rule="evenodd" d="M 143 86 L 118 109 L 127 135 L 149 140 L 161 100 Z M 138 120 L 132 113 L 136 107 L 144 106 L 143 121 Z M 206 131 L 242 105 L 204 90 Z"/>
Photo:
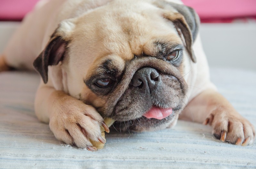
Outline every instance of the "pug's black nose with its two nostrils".
<path fill-rule="evenodd" d="M 146 88 L 149 87 L 150 91 L 154 88 L 156 82 L 158 82 L 159 73 L 153 68 L 142 68 L 135 72 L 132 77 L 131 84 L 134 87 Z"/>

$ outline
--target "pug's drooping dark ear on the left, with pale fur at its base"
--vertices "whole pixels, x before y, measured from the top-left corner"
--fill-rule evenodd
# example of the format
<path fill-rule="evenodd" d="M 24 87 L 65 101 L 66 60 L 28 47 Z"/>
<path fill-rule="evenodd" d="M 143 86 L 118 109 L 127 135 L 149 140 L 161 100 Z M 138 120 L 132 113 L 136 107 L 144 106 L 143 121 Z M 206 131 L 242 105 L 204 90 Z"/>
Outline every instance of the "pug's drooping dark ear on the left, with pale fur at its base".
<path fill-rule="evenodd" d="M 70 39 L 71 28 L 74 25 L 70 21 L 63 21 L 54 31 L 48 44 L 33 63 L 35 69 L 40 73 L 44 83 L 48 81 L 48 66 L 57 65 L 64 59 Z"/>

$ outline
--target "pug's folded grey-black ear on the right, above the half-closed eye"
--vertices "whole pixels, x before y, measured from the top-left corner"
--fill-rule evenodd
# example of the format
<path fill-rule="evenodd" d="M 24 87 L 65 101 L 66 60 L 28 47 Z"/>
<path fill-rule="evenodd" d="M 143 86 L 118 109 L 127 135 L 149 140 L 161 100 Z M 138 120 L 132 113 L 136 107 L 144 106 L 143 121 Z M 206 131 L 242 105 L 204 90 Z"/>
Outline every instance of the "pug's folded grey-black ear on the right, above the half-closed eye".
<path fill-rule="evenodd" d="M 195 10 L 186 5 L 166 1 L 156 1 L 155 5 L 165 10 L 163 13 L 164 18 L 173 22 L 188 51 L 188 54 L 191 57 L 191 60 L 196 62 L 192 45 L 198 34 L 200 19 Z"/>

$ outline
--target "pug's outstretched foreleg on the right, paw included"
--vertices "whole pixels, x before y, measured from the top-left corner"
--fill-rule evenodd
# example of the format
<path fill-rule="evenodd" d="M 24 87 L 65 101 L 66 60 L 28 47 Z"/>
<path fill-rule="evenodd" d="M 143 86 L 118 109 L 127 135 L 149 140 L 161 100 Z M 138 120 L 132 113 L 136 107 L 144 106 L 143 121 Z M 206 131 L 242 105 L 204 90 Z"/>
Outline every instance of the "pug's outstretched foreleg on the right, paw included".
<path fill-rule="evenodd" d="M 205 90 L 192 99 L 180 119 L 209 124 L 213 135 L 222 142 L 251 145 L 255 129 L 220 93 Z"/>

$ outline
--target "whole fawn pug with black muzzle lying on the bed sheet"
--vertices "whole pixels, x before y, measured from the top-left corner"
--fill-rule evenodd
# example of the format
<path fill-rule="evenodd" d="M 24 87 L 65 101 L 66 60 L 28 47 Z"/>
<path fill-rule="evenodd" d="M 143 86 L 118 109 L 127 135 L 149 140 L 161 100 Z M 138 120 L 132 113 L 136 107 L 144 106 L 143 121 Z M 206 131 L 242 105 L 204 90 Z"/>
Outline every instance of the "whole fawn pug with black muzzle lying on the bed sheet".
<path fill-rule="evenodd" d="M 0 69 L 32 70 L 34 61 L 42 76 L 36 116 L 78 148 L 106 142 L 104 118 L 132 132 L 180 118 L 211 125 L 222 142 L 251 145 L 254 127 L 210 81 L 199 23 L 178 0 L 43 0 L 14 33 Z"/>

